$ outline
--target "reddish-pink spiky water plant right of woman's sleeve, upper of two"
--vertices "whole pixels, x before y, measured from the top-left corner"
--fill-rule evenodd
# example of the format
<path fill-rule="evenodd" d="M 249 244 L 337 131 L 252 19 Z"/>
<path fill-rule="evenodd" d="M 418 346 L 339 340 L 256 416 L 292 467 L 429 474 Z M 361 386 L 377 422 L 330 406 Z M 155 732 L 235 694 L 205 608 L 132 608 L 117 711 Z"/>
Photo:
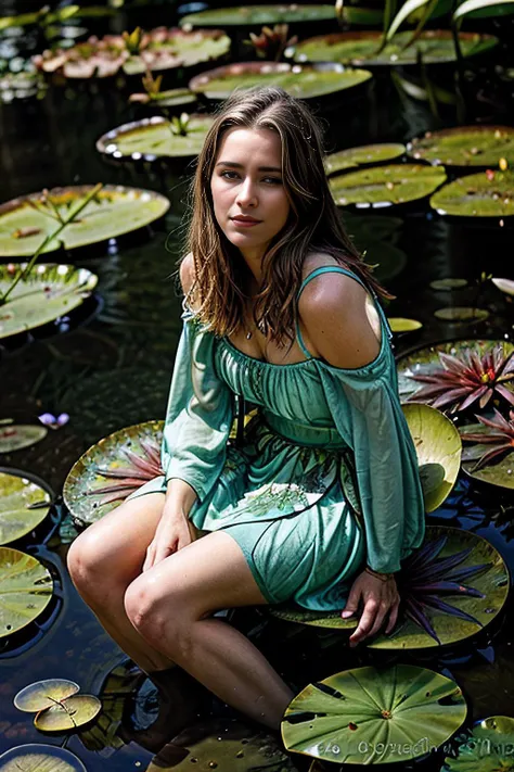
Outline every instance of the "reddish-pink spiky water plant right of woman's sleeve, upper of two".
<path fill-rule="evenodd" d="M 466 349 L 459 357 L 439 352 L 439 360 L 442 368 L 429 375 L 408 376 L 426 383 L 409 397 L 410 402 L 451 407 L 451 413 L 465 410 L 477 400 L 484 409 L 492 396 L 514 405 L 514 392 L 504 385 L 514 379 L 514 352 L 505 355 L 499 345 L 485 353 Z"/>

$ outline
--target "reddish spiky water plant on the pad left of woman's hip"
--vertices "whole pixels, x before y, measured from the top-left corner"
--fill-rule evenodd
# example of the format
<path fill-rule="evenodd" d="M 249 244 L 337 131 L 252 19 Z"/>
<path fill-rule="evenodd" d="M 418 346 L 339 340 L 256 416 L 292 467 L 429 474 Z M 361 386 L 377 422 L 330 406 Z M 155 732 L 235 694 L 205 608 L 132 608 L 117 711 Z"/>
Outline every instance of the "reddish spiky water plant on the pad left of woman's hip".
<path fill-rule="evenodd" d="M 108 480 L 115 480 L 108 485 L 95 488 L 93 491 L 86 491 L 89 496 L 102 496 L 100 506 L 112 502 L 123 501 L 131 493 L 141 488 L 149 480 L 164 474 L 160 466 L 160 448 L 152 440 L 141 440 L 144 457 L 138 456 L 131 451 L 124 450 L 125 457 L 129 460 L 128 467 L 102 468 L 97 467 L 95 471 Z"/>

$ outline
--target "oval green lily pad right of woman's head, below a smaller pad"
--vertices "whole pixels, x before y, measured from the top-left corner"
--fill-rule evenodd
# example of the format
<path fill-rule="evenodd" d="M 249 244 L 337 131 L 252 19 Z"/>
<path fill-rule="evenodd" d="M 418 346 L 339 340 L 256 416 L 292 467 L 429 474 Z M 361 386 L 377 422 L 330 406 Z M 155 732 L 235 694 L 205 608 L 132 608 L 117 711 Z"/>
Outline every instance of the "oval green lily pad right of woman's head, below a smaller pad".
<path fill-rule="evenodd" d="M 434 166 L 390 164 L 332 177 L 330 188 L 338 206 L 390 206 L 429 195 L 446 178 Z"/>

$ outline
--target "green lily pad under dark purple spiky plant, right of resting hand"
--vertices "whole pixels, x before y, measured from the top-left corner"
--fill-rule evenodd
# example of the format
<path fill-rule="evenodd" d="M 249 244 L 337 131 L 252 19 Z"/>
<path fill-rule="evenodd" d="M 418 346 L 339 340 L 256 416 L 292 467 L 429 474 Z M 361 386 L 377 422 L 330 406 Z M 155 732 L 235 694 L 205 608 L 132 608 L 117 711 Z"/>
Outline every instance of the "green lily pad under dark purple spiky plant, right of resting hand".
<path fill-rule="evenodd" d="M 509 594 L 509 571 L 492 544 L 470 531 L 434 526 L 427 527 L 419 554 L 429 542 L 442 546 L 435 550 L 435 556 L 426 557 L 420 565 L 413 564 L 411 569 L 406 568 L 408 562 L 404 564 L 398 575 L 400 598 L 403 600 L 400 606 L 402 621 L 389 635 L 380 635 L 368 644 L 371 648 L 408 650 L 461 643 L 492 622 L 503 608 Z M 458 565 L 450 566 L 442 574 L 439 568 L 441 562 L 459 554 L 461 559 Z M 438 641 L 404 616 L 404 600 L 422 569 L 428 578 L 434 577 L 434 581 L 428 580 L 429 586 L 421 593 L 416 591 L 414 597 Z M 448 584 L 452 583 L 471 587 L 472 594 L 451 590 Z M 440 584 L 442 587 L 438 589 Z"/>

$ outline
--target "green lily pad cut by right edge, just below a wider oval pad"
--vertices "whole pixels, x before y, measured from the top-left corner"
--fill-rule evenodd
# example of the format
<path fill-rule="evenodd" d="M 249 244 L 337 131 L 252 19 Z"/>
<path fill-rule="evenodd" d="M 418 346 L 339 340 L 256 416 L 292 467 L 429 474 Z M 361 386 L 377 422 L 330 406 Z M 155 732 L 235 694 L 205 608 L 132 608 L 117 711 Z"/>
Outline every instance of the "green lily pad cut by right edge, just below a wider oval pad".
<path fill-rule="evenodd" d="M 514 215 L 514 172 L 480 172 L 445 185 L 431 199 L 440 215 L 510 217 Z"/>

